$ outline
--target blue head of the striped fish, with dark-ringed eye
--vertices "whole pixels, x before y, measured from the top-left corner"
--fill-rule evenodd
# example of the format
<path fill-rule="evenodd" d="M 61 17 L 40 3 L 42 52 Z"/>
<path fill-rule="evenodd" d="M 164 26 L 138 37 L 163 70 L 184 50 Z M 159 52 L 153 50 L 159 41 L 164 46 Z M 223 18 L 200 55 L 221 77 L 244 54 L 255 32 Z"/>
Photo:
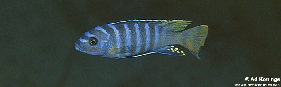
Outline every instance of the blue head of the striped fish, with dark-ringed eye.
<path fill-rule="evenodd" d="M 100 30 L 89 30 L 76 41 L 74 48 L 90 55 L 106 55 L 111 47 L 109 35 Z"/>

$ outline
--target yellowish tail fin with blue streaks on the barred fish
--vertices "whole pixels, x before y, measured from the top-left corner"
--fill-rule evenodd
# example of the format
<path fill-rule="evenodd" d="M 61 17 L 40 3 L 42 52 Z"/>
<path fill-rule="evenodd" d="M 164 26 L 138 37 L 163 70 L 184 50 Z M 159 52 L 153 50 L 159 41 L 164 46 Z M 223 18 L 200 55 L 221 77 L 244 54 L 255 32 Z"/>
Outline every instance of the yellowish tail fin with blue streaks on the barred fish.
<path fill-rule="evenodd" d="M 181 46 L 187 48 L 194 56 L 200 59 L 200 47 L 204 46 L 204 42 L 208 35 L 208 30 L 209 29 L 207 25 L 200 25 L 182 31 L 184 37 L 182 38 L 183 42 Z"/>

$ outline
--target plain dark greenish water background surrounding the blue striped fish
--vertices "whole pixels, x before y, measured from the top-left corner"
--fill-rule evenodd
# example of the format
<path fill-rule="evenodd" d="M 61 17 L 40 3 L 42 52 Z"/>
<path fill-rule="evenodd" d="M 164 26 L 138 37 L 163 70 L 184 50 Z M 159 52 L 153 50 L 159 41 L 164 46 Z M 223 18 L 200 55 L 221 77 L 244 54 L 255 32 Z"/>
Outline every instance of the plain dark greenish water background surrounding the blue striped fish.
<path fill-rule="evenodd" d="M 0 86 L 233 86 L 280 84 L 281 1 L 70 1 L 0 3 Z M 197 59 L 152 54 L 109 59 L 74 49 L 91 28 L 131 19 L 209 26 Z"/>

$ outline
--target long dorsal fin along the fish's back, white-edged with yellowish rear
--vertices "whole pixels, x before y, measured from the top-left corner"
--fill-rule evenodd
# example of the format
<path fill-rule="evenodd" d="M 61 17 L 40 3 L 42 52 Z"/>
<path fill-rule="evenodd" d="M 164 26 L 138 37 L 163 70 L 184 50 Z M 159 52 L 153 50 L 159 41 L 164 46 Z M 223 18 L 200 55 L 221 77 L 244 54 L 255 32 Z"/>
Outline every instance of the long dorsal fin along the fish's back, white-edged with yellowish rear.
<path fill-rule="evenodd" d="M 155 23 L 155 25 L 159 25 L 163 28 L 166 28 L 167 30 L 172 31 L 182 31 L 192 23 L 192 21 L 186 21 L 186 20 L 126 20 L 126 21 L 119 21 L 111 24 L 118 24 L 118 23 L 133 23 L 133 22 L 139 22 L 139 23 L 145 23 L 145 22 L 152 22 Z"/>

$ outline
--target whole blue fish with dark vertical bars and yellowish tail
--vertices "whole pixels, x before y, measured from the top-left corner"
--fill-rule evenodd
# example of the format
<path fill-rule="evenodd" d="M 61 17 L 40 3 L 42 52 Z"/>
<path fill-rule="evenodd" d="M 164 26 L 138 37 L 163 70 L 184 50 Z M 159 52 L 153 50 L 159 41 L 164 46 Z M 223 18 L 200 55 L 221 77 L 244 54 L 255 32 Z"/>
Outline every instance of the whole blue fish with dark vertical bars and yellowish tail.
<path fill-rule="evenodd" d="M 76 41 L 82 53 L 106 58 L 134 58 L 153 53 L 199 57 L 208 35 L 208 26 L 186 29 L 187 20 L 126 20 L 96 26 Z"/>

